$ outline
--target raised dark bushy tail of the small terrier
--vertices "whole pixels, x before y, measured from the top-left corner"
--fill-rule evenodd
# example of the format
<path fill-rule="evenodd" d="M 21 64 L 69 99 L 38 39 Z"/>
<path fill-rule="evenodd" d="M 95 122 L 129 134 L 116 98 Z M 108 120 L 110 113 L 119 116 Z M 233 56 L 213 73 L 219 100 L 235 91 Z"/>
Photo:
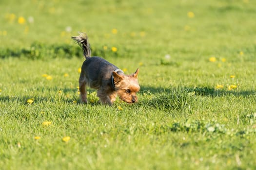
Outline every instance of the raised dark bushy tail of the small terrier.
<path fill-rule="evenodd" d="M 90 58 L 91 50 L 87 35 L 79 32 L 79 36 L 72 36 L 71 38 L 74 39 L 82 48 L 85 59 Z"/>

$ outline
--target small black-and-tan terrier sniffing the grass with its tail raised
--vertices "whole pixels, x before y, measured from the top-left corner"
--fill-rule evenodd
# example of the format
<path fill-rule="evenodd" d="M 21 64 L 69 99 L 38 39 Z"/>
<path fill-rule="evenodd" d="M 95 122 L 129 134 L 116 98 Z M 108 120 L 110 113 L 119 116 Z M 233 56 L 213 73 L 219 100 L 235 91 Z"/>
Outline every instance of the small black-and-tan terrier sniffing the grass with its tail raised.
<path fill-rule="evenodd" d="M 125 75 L 121 69 L 103 58 L 90 57 L 90 44 L 86 34 L 79 33 L 79 36 L 72 36 L 72 39 L 79 44 L 85 56 L 79 77 L 81 102 L 87 103 L 86 85 L 97 89 L 97 96 L 103 104 L 112 105 L 117 95 L 124 102 L 138 102 L 136 94 L 140 89 L 139 69 L 134 74 Z"/>

